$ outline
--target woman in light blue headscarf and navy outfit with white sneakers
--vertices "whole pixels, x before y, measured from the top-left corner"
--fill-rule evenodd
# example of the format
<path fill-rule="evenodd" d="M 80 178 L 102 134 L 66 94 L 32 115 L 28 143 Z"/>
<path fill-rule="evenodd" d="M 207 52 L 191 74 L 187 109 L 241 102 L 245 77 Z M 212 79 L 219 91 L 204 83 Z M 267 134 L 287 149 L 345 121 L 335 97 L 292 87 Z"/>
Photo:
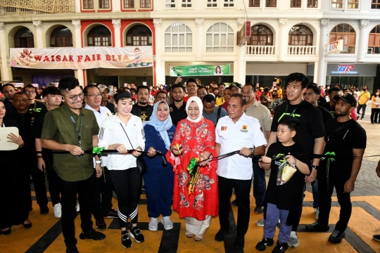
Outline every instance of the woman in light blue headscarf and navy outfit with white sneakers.
<path fill-rule="evenodd" d="M 160 150 L 164 155 L 170 148 L 175 134 L 175 126 L 169 114 L 169 105 L 165 101 L 156 103 L 149 121 L 144 122 L 145 151 L 144 156 L 147 171 L 144 174 L 145 193 L 148 216 L 151 219 L 148 229 L 157 231 L 158 217 L 162 214 L 161 223 L 165 230 L 173 228 L 170 220 L 172 214 L 172 197 L 174 172 L 172 164 L 164 165 L 162 156 L 156 154 Z"/>

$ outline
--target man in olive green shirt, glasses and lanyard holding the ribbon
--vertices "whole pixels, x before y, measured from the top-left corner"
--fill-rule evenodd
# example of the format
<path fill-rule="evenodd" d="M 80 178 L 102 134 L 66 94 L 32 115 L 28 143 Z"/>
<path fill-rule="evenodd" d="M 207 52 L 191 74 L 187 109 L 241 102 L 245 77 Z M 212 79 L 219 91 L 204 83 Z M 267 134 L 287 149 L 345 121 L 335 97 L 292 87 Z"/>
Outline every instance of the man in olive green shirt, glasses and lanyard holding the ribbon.
<path fill-rule="evenodd" d="M 42 129 L 42 147 L 69 153 L 53 154 L 53 169 L 61 183 L 62 231 L 66 252 L 77 253 L 75 238 L 75 203 L 80 202 L 82 233 L 80 239 L 103 240 L 106 235 L 92 228 L 91 197 L 94 179 L 101 176 L 100 158 L 96 156 L 96 173 L 92 155 L 84 150 L 92 150 L 98 145 L 99 126 L 94 112 L 82 108 L 84 94 L 75 77 L 65 77 L 59 81 L 58 89 L 65 98 L 60 108 L 46 113 Z"/>

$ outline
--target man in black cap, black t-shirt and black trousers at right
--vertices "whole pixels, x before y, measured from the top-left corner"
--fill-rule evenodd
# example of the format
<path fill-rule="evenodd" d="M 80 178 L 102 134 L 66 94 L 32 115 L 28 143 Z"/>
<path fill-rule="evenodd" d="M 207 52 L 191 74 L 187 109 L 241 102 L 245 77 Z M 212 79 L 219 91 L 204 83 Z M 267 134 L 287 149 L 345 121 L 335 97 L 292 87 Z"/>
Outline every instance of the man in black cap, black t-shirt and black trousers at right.
<path fill-rule="evenodd" d="M 362 156 L 365 152 L 367 135 L 365 129 L 350 119 L 350 113 L 355 109 L 357 101 L 350 94 L 336 96 L 336 118 L 326 122 L 326 136 L 324 154 L 334 153 L 321 161 L 318 173 L 319 184 L 319 219 L 308 226 L 308 231 L 329 230 L 329 214 L 331 209 L 331 195 L 336 190 L 341 212 L 335 230 L 329 237 L 329 242 L 339 243 L 343 240 L 348 221 L 350 220 L 352 205 L 350 193 L 355 188 L 355 181 L 362 165 Z"/>

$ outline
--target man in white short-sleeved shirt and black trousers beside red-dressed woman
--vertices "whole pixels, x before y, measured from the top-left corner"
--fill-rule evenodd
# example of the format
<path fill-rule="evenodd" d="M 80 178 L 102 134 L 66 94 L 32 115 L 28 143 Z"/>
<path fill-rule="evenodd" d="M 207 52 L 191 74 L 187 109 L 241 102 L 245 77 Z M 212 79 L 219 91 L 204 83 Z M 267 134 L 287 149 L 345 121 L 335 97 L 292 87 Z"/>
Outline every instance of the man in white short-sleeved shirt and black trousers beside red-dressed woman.
<path fill-rule="evenodd" d="M 250 200 L 252 183 L 252 155 L 265 153 L 264 135 L 260 130 L 258 119 L 247 116 L 246 99 L 241 94 L 234 94 L 228 101 L 229 116 L 222 117 L 215 129 L 217 155 L 224 155 L 240 150 L 239 155 L 232 155 L 217 162 L 219 190 L 220 231 L 215 240 L 223 241 L 229 231 L 229 209 L 232 188 L 236 193 L 238 206 L 237 235 L 235 249 L 244 247 L 244 235 L 248 231 L 250 216 Z"/>

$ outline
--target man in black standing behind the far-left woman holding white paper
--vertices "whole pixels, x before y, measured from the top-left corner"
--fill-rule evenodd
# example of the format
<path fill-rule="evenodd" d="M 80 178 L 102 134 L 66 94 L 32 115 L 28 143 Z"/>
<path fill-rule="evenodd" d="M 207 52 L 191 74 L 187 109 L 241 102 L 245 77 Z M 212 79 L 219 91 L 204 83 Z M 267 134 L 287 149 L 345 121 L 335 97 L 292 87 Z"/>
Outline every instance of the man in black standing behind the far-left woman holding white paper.
<path fill-rule="evenodd" d="M 48 214 L 49 207 L 47 207 L 48 199 L 46 196 L 45 174 L 37 167 L 36 148 L 34 138 L 32 137 L 32 126 L 35 115 L 28 109 L 29 100 L 25 93 L 16 93 L 13 97 L 13 103 L 15 105 L 15 112 L 8 115 L 7 119 L 14 120 L 18 123 L 20 136 L 23 137 L 25 143 L 21 162 L 24 162 L 25 169 L 29 169 L 30 175 L 32 176 L 40 213 Z M 30 207 L 32 207 L 32 195 L 30 195 Z"/>

